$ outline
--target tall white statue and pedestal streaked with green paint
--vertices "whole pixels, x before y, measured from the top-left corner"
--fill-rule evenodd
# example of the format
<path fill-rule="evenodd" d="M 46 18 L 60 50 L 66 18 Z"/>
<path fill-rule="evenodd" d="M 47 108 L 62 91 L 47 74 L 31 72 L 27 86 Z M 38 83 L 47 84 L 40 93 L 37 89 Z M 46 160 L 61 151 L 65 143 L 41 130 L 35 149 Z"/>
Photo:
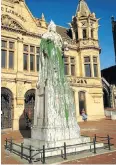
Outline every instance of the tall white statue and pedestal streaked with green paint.
<path fill-rule="evenodd" d="M 41 148 L 77 143 L 80 128 L 74 94 L 64 74 L 63 41 L 53 21 L 40 43 L 39 78 L 36 89 L 33 143 Z"/>

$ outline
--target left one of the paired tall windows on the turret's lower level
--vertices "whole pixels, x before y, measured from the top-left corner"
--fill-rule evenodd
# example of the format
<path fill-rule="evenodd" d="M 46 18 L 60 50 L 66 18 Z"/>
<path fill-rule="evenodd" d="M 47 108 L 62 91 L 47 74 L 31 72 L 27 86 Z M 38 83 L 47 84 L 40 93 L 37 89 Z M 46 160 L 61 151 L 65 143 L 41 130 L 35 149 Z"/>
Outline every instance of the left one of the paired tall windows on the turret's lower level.
<path fill-rule="evenodd" d="M 84 57 L 85 77 L 91 77 L 90 57 Z"/>

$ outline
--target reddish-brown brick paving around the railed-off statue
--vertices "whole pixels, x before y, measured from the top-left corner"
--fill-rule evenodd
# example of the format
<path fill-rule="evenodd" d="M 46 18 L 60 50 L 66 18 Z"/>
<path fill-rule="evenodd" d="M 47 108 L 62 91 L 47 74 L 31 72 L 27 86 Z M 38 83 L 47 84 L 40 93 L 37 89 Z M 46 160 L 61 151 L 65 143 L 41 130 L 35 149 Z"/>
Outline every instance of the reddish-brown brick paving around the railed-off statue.
<path fill-rule="evenodd" d="M 81 128 L 81 134 L 93 137 L 94 134 L 97 136 L 107 136 L 108 134 L 113 137 L 111 143 L 114 143 L 116 147 L 116 121 L 110 119 L 103 119 L 100 121 L 89 121 L 79 123 Z M 20 158 L 16 159 L 4 150 L 4 142 L 6 138 L 13 137 L 15 142 L 23 141 L 23 137 L 30 137 L 29 131 L 6 131 L 1 135 L 1 164 L 22 164 Z M 99 140 L 99 139 L 98 139 Z M 66 164 L 116 164 L 116 151 L 88 157 L 84 159 L 78 159 L 66 162 Z"/>

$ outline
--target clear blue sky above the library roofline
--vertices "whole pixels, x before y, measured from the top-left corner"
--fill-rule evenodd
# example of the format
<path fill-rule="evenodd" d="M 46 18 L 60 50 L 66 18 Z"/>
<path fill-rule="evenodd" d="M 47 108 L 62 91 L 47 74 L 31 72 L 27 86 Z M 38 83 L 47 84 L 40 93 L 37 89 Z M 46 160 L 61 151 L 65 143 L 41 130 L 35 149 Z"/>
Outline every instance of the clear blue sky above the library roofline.
<path fill-rule="evenodd" d="M 41 18 L 44 13 L 47 22 L 68 28 L 75 15 L 79 0 L 25 0 L 34 17 Z M 116 19 L 116 0 L 86 0 L 90 11 L 96 14 L 99 21 L 99 44 L 101 69 L 115 65 L 111 16 Z"/>

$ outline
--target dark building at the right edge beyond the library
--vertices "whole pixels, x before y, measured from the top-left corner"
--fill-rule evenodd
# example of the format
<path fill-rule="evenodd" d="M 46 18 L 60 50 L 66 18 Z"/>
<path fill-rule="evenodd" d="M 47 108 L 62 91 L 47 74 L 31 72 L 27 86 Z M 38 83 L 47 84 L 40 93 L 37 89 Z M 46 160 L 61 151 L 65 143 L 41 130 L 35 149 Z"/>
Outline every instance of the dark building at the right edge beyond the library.
<path fill-rule="evenodd" d="M 112 33 L 114 41 L 115 65 L 101 71 L 104 107 L 116 108 L 116 21 L 112 17 Z"/>

